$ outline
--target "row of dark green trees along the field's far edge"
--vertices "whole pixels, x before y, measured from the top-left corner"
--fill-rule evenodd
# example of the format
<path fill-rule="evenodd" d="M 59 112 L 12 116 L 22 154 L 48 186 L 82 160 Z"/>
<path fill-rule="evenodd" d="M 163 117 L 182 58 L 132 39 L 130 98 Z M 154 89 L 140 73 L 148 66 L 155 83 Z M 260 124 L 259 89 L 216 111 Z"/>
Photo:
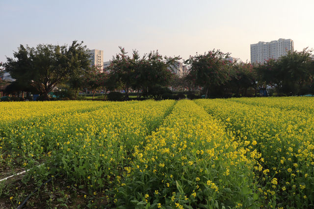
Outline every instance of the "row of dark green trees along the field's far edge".
<path fill-rule="evenodd" d="M 171 70 L 180 56 L 162 56 L 158 51 L 140 56 L 136 50 L 129 55 L 124 48 L 119 49 L 104 70 L 91 65 L 83 42 L 73 41 L 70 46 L 39 44 L 35 48 L 20 45 L 14 57 L 1 64 L 15 79 L 4 92 L 37 93 L 44 100 L 50 100 L 49 93 L 56 89 L 73 92 L 75 99 L 79 91 L 86 90 L 94 94 L 97 90 L 124 90 L 125 98 L 131 90 L 137 97 L 160 98 L 169 93 L 169 87 L 199 91 L 206 98 L 257 96 L 259 88 L 266 86 L 277 95 L 314 93 L 314 60 L 308 49 L 289 51 L 277 60 L 259 64 L 231 62 L 230 53 L 220 50 L 197 53 L 183 60 L 183 77 Z"/>

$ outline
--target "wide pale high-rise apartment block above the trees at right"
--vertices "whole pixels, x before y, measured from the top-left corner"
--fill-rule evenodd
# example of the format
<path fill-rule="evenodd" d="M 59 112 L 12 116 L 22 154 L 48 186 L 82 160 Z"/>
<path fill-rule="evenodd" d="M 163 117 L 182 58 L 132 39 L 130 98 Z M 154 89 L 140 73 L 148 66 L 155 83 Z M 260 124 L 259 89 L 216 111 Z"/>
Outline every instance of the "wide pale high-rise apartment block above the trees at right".
<path fill-rule="evenodd" d="M 251 63 L 264 63 L 267 59 L 278 59 L 294 50 L 291 39 L 280 38 L 277 41 L 251 44 Z"/>

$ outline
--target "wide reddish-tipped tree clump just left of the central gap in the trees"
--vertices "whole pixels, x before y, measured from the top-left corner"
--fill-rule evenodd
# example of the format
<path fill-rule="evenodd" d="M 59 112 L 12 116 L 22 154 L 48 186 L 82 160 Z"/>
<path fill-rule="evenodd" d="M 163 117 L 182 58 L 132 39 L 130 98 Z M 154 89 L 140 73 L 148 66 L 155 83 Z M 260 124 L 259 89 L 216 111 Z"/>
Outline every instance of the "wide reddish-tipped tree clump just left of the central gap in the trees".
<path fill-rule="evenodd" d="M 140 57 L 136 50 L 129 56 L 124 48 L 119 48 L 121 52 L 113 56 L 109 71 L 110 77 L 122 84 L 126 97 L 130 87 L 141 90 L 143 95 L 149 95 L 152 92 L 149 89 L 169 85 L 173 76 L 169 67 L 180 57 L 162 57 L 158 51 Z"/>

